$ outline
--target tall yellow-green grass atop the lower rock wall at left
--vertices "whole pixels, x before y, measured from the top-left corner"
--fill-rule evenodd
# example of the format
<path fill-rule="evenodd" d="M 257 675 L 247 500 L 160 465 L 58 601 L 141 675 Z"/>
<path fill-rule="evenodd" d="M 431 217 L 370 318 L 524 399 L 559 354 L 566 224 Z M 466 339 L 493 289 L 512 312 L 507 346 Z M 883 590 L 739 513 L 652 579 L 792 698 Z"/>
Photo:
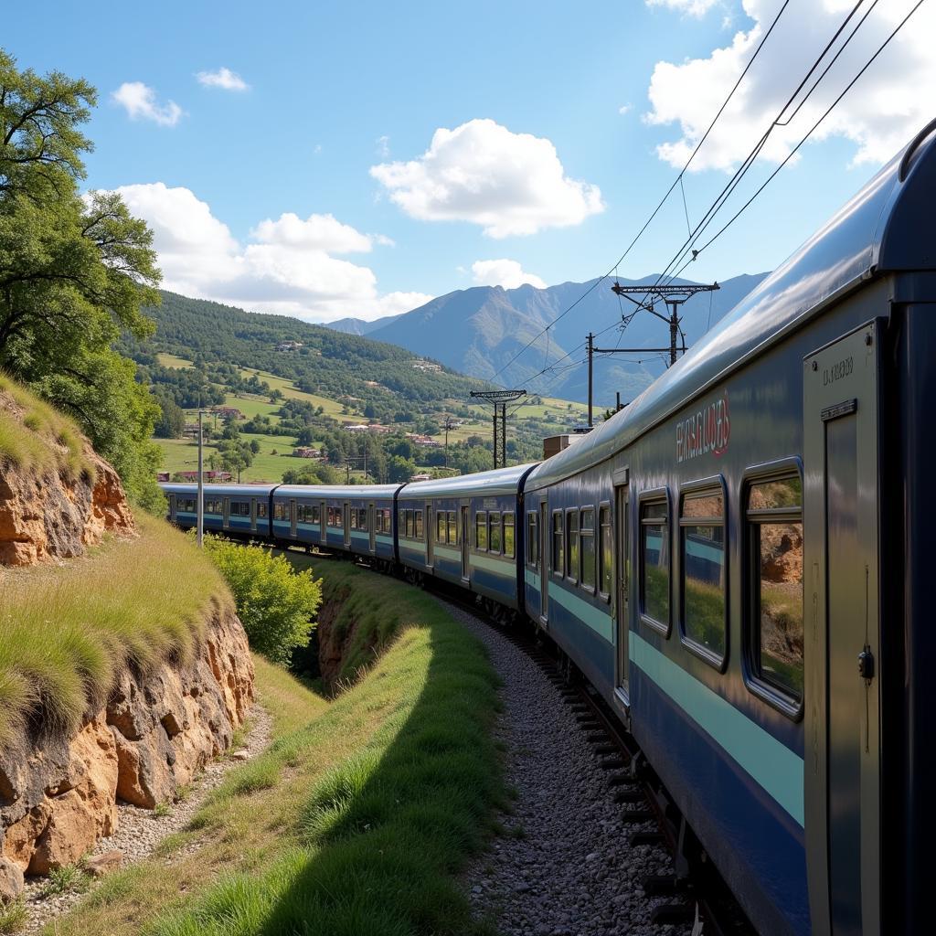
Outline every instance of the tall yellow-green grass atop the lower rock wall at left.
<path fill-rule="evenodd" d="M 137 520 L 139 537 L 64 566 L 0 571 L 0 749 L 26 726 L 77 730 L 125 666 L 190 661 L 212 607 L 232 601 L 183 534 Z"/>

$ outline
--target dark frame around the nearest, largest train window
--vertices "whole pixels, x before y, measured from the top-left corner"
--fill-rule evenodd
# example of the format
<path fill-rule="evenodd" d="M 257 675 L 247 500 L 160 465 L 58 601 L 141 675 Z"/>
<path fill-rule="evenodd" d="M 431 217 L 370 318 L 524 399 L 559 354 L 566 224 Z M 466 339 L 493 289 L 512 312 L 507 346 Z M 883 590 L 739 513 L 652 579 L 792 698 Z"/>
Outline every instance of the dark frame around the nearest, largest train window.
<path fill-rule="evenodd" d="M 760 668 L 760 603 L 758 601 L 759 586 L 754 585 L 754 576 L 759 577 L 760 551 L 758 550 L 756 561 L 754 557 L 754 539 L 752 535 L 753 526 L 760 526 L 760 521 L 748 519 L 748 497 L 751 489 L 758 484 L 764 484 L 769 481 L 782 481 L 784 478 L 797 477 L 800 490 L 803 491 L 801 500 L 805 500 L 806 486 L 803 480 L 803 463 L 796 456 L 790 456 L 777 461 L 766 461 L 745 469 L 741 475 L 739 485 L 739 521 L 741 525 L 741 552 L 742 552 L 742 571 L 741 571 L 741 591 L 743 616 L 741 619 L 741 672 L 744 684 L 752 695 L 756 695 L 762 702 L 766 702 L 772 709 L 776 709 L 782 715 L 785 715 L 791 722 L 800 722 L 803 713 L 806 710 L 806 570 L 803 569 L 803 693 L 797 699 L 782 686 L 765 679 L 761 675 Z M 803 538 L 805 542 L 805 505 L 800 504 L 798 517 L 793 519 L 796 511 L 778 511 L 771 517 L 776 519 L 788 519 L 791 522 L 798 522 L 803 527 Z M 758 579 L 759 580 L 759 579 Z"/>

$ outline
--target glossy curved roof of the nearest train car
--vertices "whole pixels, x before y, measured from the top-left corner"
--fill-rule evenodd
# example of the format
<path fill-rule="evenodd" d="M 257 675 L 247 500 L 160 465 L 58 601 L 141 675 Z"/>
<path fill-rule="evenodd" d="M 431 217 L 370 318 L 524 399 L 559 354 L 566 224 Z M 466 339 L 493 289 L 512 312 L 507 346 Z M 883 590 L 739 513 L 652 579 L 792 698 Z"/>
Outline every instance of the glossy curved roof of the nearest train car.
<path fill-rule="evenodd" d="M 936 270 L 933 205 L 936 121 L 633 402 L 543 461 L 526 490 L 606 461 L 862 281 Z"/>

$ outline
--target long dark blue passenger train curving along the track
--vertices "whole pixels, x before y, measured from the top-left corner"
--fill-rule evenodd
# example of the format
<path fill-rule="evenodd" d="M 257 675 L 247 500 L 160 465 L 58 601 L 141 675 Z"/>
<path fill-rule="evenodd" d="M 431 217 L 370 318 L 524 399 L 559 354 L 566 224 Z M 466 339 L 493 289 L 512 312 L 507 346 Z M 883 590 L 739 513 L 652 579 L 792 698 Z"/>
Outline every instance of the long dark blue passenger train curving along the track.
<path fill-rule="evenodd" d="M 547 634 L 753 926 L 931 929 L 936 121 L 621 412 L 534 464 L 209 486 L 205 527 Z M 164 485 L 195 523 L 193 485 Z"/>

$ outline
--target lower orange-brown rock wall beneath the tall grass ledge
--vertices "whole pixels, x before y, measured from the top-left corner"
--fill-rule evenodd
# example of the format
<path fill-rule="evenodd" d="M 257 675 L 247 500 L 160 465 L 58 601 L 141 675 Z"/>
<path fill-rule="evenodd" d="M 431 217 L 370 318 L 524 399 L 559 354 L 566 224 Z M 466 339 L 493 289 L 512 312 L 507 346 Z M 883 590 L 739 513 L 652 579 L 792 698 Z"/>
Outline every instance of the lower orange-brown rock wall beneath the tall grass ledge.
<path fill-rule="evenodd" d="M 152 809 L 175 797 L 227 750 L 253 698 L 241 622 L 219 611 L 193 665 L 127 672 L 74 737 L 0 753 L 0 894 L 110 835 L 118 799 Z"/>

